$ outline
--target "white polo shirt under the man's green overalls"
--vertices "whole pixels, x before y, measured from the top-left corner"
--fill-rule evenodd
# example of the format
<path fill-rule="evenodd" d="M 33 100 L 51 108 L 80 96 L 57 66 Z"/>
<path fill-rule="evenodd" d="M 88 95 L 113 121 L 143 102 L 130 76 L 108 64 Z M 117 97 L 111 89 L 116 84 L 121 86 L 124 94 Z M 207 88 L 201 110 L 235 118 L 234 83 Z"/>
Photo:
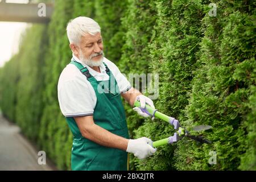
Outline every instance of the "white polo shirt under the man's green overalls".
<path fill-rule="evenodd" d="M 109 80 L 109 75 L 105 71 L 105 65 L 100 65 L 101 73 L 94 71 L 88 65 L 82 63 L 76 56 L 73 59 L 86 67 L 90 75 L 96 78 L 97 81 Z M 118 67 L 110 60 L 104 57 L 104 63 L 113 73 L 117 81 L 118 88 L 124 93 L 131 88 L 130 82 L 119 71 Z M 82 115 L 93 115 L 96 106 L 96 93 L 85 75 L 82 75 L 80 70 L 73 64 L 68 64 L 60 74 L 57 86 L 58 100 L 61 113 L 65 117 L 76 117 Z"/>

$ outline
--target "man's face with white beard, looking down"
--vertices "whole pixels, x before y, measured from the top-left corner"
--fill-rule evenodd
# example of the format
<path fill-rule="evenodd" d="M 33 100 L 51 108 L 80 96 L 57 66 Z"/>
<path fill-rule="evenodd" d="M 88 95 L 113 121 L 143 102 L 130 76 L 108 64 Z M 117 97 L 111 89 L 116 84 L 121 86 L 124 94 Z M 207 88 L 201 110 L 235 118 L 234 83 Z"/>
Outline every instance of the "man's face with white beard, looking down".
<path fill-rule="evenodd" d="M 95 35 L 85 34 L 81 37 L 77 54 L 79 59 L 90 67 L 99 66 L 104 58 L 103 42 L 100 32 Z"/>

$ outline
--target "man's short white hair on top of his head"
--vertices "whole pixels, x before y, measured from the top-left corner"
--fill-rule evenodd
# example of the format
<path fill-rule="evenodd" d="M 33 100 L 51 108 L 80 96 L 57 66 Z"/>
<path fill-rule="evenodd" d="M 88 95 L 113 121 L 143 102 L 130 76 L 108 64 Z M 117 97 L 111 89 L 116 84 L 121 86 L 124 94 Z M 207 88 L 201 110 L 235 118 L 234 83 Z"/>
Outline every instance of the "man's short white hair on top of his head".
<path fill-rule="evenodd" d="M 85 34 L 95 35 L 101 32 L 101 27 L 92 18 L 79 16 L 69 21 L 67 35 L 69 43 L 79 44 L 81 36 Z"/>

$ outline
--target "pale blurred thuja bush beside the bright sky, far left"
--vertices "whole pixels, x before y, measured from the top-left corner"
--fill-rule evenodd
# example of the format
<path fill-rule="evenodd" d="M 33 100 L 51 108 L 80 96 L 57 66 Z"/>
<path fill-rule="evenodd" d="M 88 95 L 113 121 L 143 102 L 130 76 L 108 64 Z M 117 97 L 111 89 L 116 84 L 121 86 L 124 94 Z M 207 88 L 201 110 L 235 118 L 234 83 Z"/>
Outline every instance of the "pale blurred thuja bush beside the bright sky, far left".
<path fill-rule="evenodd" d="M 31 140 L 38 139 L 43 110 L 43 89 L 47 26 L 35 24 L 27 28 L 22 38 L 15 64 L 18 64 L 19 81 L 16 83 L 15 122 Z M 17 74 L 12 73 L 12 74 Z"/>

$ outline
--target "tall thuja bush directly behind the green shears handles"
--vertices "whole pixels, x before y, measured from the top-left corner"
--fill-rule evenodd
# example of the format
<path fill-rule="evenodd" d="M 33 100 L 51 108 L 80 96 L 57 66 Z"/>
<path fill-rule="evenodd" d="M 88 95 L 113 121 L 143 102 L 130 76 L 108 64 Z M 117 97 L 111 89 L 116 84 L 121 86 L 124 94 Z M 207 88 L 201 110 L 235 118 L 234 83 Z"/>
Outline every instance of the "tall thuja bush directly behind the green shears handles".
<path fill-rule="evenodd" d="M 204 17 L 201 1 L 156 1 L 158 19 L 156 38 L 150 45 L 150 70 L 159 74 L 159 97 L 156 108 L 184 121 L 184 109 L 188 104 L 193 71 L 197 68 L 197 52 L 203 36 L 201 19 Z M 147 120 L 137 130 L 137 137 L 147 135 L 152 140 L 170 137 L 173 127 L 164 121 Z M 159 147 L 146 162 L 137 160 L 139 169 L 174 169 L 174 146 Z"/>

